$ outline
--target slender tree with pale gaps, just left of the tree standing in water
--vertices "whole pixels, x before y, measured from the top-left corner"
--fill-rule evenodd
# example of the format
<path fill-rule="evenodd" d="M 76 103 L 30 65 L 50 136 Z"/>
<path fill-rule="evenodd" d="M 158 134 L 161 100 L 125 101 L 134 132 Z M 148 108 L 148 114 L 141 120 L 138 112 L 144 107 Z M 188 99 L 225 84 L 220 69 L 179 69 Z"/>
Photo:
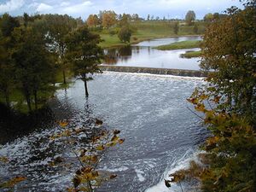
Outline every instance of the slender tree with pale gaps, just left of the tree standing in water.
<path fill-rule="evenodd" d="M 68 32 L 73 31 L 77 21 L 68 15 L 44 15 L 45 28 L 48 31 L 49 49 L 58 55 L 58 64 L 61 67 L 63 83 L 66 84 L 67 62 L 65 59 L 67 44 L 65 42 Z"/>

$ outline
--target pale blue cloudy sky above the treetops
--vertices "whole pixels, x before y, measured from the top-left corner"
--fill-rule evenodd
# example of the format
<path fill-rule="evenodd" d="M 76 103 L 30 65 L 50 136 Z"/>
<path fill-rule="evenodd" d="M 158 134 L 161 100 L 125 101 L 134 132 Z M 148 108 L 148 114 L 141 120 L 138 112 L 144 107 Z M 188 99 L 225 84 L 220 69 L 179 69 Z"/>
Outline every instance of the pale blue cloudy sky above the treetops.
<path fill-rule="evenodd" d="M 114 10 L 117 14 L 138 14 L 143 18 L 154 15 L 183 19 L 188 10 L 194 10 L 197 19 L 207 13 L 221 13 L 239 0 L 0 0 L 0 15 L 67 14 L 86 19 L 99 10 Z"/>

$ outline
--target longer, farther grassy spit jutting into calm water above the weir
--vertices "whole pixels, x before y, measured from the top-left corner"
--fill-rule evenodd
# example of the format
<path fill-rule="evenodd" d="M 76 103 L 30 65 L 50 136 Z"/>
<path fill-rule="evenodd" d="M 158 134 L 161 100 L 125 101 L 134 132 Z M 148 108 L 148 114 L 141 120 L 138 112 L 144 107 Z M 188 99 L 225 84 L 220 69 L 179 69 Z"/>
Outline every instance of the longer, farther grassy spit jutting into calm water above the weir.
<path fill-rule="evenodd" d="M 158 47 L 155 47 L 154 49 L 159 50 L 173 50 L 173 49 L 192 49 L 192 48 L 199 48 L 201 44 L 201 41 L 181 41 L 173 44 L 165 44 Z"/>

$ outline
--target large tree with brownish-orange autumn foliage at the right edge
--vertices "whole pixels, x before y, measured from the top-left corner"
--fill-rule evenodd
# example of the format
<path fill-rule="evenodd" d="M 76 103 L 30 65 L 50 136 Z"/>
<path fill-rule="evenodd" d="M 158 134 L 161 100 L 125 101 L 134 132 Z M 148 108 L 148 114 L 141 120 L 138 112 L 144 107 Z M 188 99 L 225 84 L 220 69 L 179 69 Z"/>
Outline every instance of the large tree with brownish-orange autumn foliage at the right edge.
<path fill-rule="evenodd" d="M 211 81 L 218 84 L 216 91 L 239 113 L 255 113 L 255 12 L 252 7 L 228 9 L 229 16 L 207 28 L 202 44 L 201 68 L 215 71 Z"/>

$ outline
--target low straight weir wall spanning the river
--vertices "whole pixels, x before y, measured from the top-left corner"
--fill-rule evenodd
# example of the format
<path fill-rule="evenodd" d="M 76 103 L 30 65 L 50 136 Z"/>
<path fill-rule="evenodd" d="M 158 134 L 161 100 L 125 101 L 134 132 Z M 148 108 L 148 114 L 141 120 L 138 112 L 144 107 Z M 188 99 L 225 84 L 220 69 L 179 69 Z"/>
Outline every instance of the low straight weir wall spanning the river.
<path fill-rule="evenodd" d="M 108 72 L 124 72 L 124 73 L 150 73 L 150 74 L 163 74 L 175 75 L 184 77 L 207 77 L 207 73 L 198 70 L 189 69 L 172 69 L 172 68 L 154 68 L 154 67 L 126 67 L 126 66 L 109 66 L 101 65 L 102 71 Z"/>

